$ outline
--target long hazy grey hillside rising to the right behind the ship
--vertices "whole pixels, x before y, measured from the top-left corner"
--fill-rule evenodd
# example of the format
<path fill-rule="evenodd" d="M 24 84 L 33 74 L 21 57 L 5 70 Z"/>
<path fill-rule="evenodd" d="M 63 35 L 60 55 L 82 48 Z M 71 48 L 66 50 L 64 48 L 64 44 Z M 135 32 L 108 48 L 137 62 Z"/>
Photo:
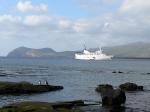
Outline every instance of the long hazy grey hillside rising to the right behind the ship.
<path fill-rule="evenodd" d="M 126 45 L 104 47 L 104 52 L 116 58 L 150 58 L 150 43 L 137 42 Z"/>

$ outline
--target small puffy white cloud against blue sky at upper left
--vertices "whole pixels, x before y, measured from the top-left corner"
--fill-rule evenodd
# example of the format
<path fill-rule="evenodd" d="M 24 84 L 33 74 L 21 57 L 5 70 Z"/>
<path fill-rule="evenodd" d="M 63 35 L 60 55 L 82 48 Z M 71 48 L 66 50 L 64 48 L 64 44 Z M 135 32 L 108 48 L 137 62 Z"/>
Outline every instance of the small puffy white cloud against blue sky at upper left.
<path fill-rule="evenodd" d="M 20 12 L 47 12 L 48 6 L 46 4 L 33 5 L 31 1 L 19 1 L 17 9 Z"/>

